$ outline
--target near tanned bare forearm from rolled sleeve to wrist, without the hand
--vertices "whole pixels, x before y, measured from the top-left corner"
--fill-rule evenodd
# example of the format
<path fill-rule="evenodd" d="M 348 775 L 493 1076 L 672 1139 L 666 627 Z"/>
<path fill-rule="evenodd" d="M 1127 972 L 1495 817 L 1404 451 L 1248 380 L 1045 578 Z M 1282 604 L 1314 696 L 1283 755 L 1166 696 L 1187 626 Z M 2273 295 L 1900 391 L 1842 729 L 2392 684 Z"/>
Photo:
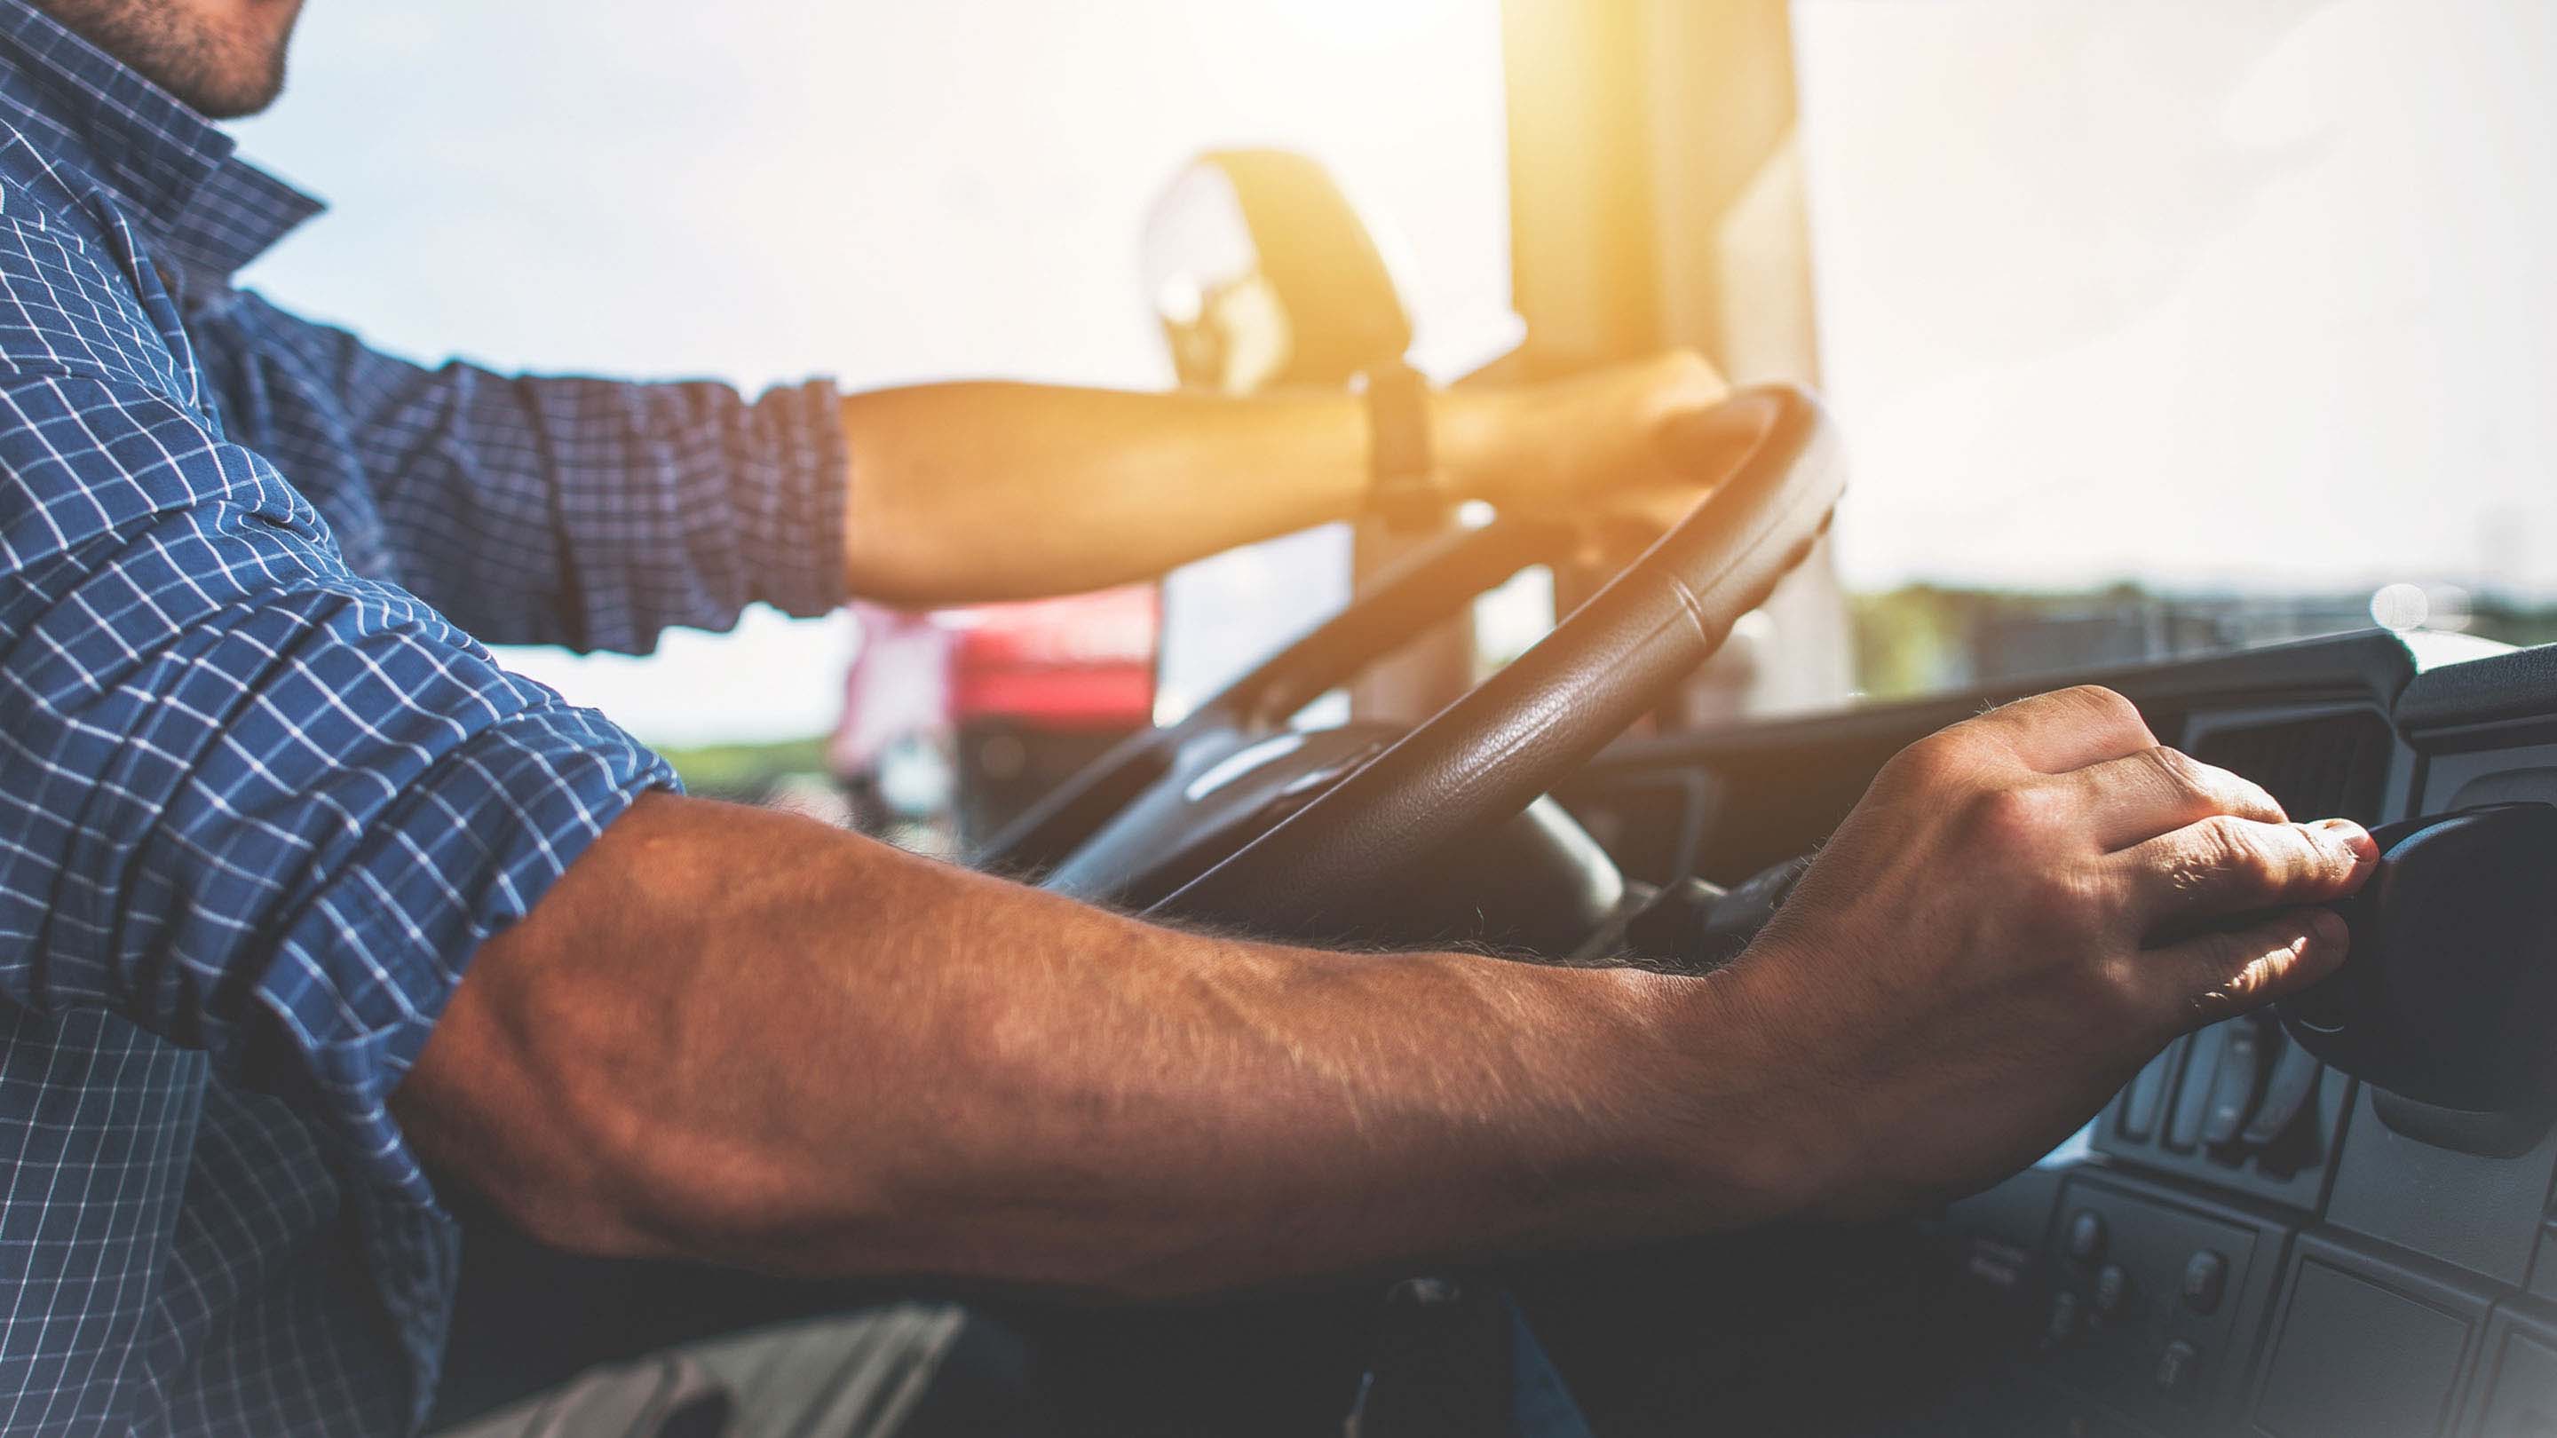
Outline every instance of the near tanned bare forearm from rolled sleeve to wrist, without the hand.
<path fill-rule="evenodd" d="M 476 960 L 399 1110 L 588 1249 L 1158 1295 L 1764 1218 L 1749 1095 L 1659 1031 L 1690 1000 L 657 798 Z"/>

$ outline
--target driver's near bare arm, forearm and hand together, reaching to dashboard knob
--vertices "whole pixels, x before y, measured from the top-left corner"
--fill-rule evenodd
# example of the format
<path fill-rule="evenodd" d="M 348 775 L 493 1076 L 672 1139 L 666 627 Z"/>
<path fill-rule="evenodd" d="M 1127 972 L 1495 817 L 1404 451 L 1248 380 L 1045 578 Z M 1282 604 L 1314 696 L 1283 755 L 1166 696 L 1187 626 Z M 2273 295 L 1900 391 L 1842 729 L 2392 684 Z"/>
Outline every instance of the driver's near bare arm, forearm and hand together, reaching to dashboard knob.
<path fill-rule="evenodd" d="M 1971 1190 L 2309 983 L 2352 826 L 2076 688 L 1931 737 L 1713 977 L 1156 929 L 652 796 L 394 1110 L 603 1254 L 1184 1295 Z"/>

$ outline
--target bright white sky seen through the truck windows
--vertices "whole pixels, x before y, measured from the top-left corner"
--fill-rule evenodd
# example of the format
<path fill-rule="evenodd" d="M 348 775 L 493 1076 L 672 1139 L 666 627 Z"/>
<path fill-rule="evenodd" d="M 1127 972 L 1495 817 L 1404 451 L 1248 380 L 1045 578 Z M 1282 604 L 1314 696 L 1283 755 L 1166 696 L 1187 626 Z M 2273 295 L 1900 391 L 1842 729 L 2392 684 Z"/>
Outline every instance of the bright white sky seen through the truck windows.
<path fill-rule="evenodd" d="M 2557 589 L 2557 5 L 1798 0 L 1798 43 L 1851 583 Z M 1424 343 L 1506 312 L 1496 0 L 309 0 L 240 130 L 335 202 L 251 281 L 422 358 L 1153 386 L 1138 225 L 1225 143 L 1401 230 Z M 823 729 L 846 645 L 517 663 L 698 742 Z"/>

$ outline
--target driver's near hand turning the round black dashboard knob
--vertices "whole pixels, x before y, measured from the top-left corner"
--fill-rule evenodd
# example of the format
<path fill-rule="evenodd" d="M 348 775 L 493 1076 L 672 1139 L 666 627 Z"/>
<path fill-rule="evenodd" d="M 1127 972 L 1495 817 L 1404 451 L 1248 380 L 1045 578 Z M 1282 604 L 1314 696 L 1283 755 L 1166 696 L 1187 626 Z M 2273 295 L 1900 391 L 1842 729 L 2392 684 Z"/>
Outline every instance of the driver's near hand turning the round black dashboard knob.
<path fill-rule="evenodd" d="M 2306 906 L 2373 860 L 2069 688 L 1895 757 L 1723 977 L 1815 1208 L 1879 1213 L 2005 1177 L 2173 1034 L 2332 972 L 2345 926 Z"/>

